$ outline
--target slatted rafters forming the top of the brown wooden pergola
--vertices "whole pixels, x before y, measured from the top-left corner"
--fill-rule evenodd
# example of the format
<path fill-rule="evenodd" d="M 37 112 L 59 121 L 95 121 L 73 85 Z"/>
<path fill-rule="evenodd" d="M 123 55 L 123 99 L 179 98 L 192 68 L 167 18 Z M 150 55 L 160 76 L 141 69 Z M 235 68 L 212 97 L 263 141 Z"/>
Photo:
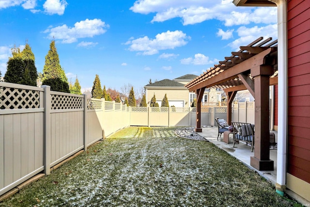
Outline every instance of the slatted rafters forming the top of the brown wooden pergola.
<path fill-rule="evenodd" d="M 268 48 L 276 48 L 277 46 L 278 46 L 278 40 L 272 41 L 271 37 L 263 40 L 263 37 L 260 37 L 256 39 L 255 41 L 253 41 L 252 43 L 250 43 L 248 46 L 241 46 L 238 52 L 232 52 L 232 56 L 225 57 L 224 61 L 219 61 L 219 64 L 215 64 L 214 67 L 211 67 L 206 72 L 204 72 L 203 74 L 201 74 L 194 80 L 187 83 L 185 87 L 189 89 L 193 86 L 196 86 L 202 83 L 203 81 L 211 79 L 212 77 L 222 73 L 223 71 L 248 60 L 249 58 L 263 52 L 264 50 Z M 274 74 L 271 76 L 271 78 L 277 77 L 277 76 L 278 76 L 278 65 L 275 64 Z M 249 74 L 249 77 L 253 80 L 250 74 Z M 231 80 L 227 80 L 219 84 L 210 86 L 210 88 L 216 87 L 216 88 L 225 89 L 225 88 L 231 88 L 233 86 L 238 86 L 242 84 L 243 83 L 240 80 L 240 78 L 235 76 L 235 77 L 232 77 Z"/>

